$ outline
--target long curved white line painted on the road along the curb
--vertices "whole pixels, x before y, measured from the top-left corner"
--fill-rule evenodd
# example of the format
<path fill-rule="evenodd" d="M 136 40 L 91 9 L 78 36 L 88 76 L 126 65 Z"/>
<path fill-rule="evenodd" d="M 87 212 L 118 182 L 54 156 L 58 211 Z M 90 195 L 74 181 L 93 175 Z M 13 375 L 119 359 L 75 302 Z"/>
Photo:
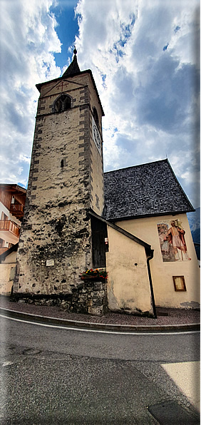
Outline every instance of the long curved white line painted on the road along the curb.
<path fill-rule="evenodd" d="M 53 327 L 56 329 L 67 329 L 69 331 L 80 331 L 80 332 L 98 332 L 100 334 L 121 334 L 121 335 L 182 335 L 182 334 L 199 334 L 200 331 L 183 331 L 183 332 L 116 332 L 116 331 L 105 331 L 105 330 L 100 330 L 100 329 L 83 329 L 83 328 L 79 328 L 79 327 L 67 327 L 67 326 L 58 326 L 57 324 L 45 324 L 45 323 L 37 323 L 37 322 L 30 322 L 29 320 L 22 320 L 22 319 L 15 319 L 14 317 L 9 317 L 9 316 L 4 316 L 4 314 L 0 314 L 0 317 L 4 317 L 5 319 L 10 319 L 10 320 L 14 320 L 15 322 L 24 322 L 24 323 L 28 323 L 28 324 L 36 324 L 37 326 L 43 326 L 43 327 Z"/>

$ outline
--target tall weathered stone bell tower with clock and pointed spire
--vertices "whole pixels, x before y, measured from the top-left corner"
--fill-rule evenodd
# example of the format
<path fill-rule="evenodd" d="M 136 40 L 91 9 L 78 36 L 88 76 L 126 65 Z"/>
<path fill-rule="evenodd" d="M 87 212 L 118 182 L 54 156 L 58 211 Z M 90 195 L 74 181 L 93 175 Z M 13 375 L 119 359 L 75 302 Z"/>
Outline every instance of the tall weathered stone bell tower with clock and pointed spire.
<path fill-rule="evenodd" d="M 68 294 L 93 264 L 89 210 L 103 213 L 102 116 L 91 70 L 73 61 L 40 92 L 14 294 Z"/>

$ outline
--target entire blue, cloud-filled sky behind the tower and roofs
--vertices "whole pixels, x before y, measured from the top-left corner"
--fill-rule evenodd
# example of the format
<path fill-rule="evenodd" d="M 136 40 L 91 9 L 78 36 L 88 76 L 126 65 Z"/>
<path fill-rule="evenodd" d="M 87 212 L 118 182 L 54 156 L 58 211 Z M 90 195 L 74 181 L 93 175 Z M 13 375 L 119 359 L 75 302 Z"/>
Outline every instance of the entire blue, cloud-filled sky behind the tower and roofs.
<path fill-rule="evenodd" d="M 36 83 L 78 51 L 103 106 L 104 170 L 168 158 L 200 206 L 200 1 L 0 0 L 0 183 L 27 186 Z"/>

